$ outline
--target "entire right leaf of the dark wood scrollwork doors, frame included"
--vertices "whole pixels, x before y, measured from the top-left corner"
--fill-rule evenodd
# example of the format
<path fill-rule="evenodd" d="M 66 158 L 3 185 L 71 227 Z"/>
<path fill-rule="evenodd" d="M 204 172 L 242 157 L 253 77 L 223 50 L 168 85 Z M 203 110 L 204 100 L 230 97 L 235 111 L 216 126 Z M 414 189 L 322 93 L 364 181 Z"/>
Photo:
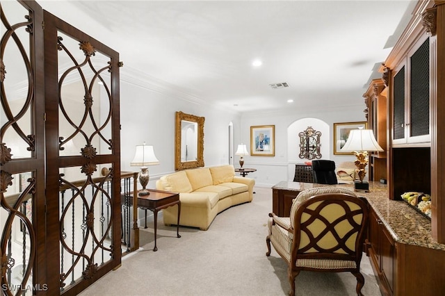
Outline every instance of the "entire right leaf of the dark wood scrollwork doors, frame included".
<path fill-rule="evenodd" d="M 120 265 L 119 54 L 44 24 L 49 286 L 75 295 Z"/>

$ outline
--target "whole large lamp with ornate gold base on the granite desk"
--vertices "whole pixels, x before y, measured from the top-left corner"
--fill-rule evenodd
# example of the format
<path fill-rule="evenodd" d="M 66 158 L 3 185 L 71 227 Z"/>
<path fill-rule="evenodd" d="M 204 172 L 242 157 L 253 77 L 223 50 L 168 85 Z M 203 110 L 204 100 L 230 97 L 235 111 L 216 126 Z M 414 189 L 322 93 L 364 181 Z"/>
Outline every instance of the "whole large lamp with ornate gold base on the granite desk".
<path fill-rule="evenodd" d="M 354 162 L 357 166 L 357 174 L 360 181 L 354 181 L 354 189 L 369 192 L 369 183 L 363 181 L 366 175 L 366 165 L 368 165 L 368 151 L 383 151 L 375 140 L 372 129 L 353 129 L 350 131 L 348 140 L 340 151 L 353 152 L 357 157 Z"/>

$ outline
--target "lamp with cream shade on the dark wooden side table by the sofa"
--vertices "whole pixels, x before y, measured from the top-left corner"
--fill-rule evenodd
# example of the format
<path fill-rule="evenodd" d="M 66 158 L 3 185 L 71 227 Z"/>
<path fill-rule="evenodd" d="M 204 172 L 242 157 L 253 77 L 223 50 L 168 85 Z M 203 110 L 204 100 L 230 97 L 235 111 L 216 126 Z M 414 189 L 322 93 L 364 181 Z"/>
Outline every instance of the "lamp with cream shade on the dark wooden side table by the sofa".
<path fill-rule="evenodd" d="M 130 165 L 132 167 L 140 167 L 139 182 L 143 189 L 139 191 L 139 195 L 149 195 L 150 192 L 145 188 L 149 181 L 147 165 L 159 165 L 158 158 L 154 155 L 152 145 L 136 145 L 136 154 Z"/>

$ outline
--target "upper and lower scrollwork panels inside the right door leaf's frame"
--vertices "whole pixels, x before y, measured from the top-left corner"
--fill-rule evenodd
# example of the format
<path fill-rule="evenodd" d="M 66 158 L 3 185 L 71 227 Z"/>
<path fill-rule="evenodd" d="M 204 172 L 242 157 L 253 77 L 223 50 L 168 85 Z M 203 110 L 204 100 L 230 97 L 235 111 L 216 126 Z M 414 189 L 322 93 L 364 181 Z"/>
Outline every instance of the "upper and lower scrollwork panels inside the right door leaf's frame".
<path fill-rule="evenodd" d="M 90 42 L 58 32 L 58 61 L 59 155 L 78 164 L 59 169 L 63 292 L 113 258 L 113 198 L 120 194 L 113 192 L 113 165 L 97 159 L 113 149 L 110 58 Z M 101 167 L 111 170 L 99 176 Z"/>

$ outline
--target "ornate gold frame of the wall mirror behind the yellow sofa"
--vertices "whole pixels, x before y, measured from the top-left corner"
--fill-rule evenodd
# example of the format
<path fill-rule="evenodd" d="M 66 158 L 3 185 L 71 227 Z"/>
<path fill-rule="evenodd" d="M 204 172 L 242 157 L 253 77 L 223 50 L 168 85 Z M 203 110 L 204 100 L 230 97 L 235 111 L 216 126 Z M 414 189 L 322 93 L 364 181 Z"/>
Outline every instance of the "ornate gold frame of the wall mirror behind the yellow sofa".
<path fill-rule="evenodd" d="M 193 167 L 204 167 L 204 117 L 186 114 L 181 111 L 176 113 L 175 125 L 175 170 L 186 170 Z M 195 122 L 197 124 L 197 157 L 194 161 L 182 161 L 181 155 L 184 147 L 181 147 L 181 124 L 183 122 Z"/>

